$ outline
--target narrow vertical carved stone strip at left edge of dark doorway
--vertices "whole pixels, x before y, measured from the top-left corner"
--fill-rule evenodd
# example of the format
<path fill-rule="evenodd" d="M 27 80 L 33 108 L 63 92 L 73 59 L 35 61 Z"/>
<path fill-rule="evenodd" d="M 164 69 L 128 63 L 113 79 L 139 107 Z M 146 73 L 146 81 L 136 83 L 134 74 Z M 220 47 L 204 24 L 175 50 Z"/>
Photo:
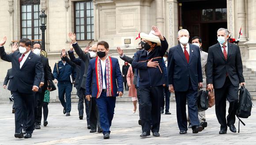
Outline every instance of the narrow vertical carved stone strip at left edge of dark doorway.
<path fill-rule="evenodd" d="M 173 3 L 169 4 L 169 46 L 174 46 L 174 34 L 173 34 L 173 23 L 174 16 L 173 16 Z"/>

